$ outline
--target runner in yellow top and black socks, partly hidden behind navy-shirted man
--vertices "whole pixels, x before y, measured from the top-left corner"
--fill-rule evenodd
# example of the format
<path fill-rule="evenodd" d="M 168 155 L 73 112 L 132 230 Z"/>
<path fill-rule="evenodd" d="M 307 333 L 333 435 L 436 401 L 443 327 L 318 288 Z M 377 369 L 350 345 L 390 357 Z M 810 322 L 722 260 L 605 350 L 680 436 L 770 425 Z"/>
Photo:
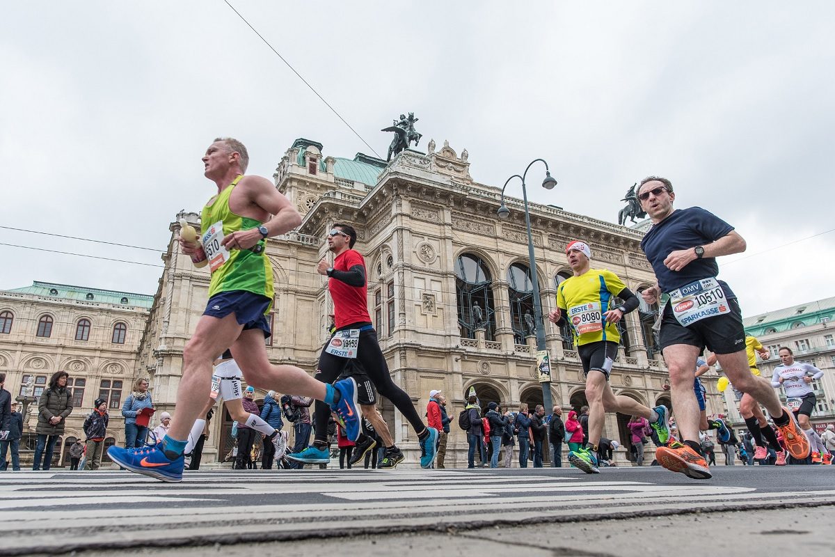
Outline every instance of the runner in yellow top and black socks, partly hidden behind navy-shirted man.
<path fill-rule="evenodd" d="M 759 353 L 763 360 L 771 357 L 771 353 L 768 352 L 766 347 L 762 346 L 762 343 L 756 337 L 751 337 L 751 335 L 746 335 L 745 337 L 745 353 L 748 358 L 748 369 L 751 370 L 753 375 L 760 377 L 760 370 L 757 368 L 757 353 Z M 711 354 L 707 357 L 707 363 L 711 366 L 716 365 L 716 354 Z M 734 387 L 727 380 L 727 377 L 719 377 L 719 382 L 716 383 L 716 387 L 719 392 L 724 392 L 727 387 L 733 389 L 736 402 L 739 403 L 739 413 L 742 419 L 745 420 L 746 428 L 751 432 L 754 443 L 757 444 L 757 448 L 754 451 L 754 459 L 765 460 L 768 458 L 768 448 L 766 447 L 766 442 L 768 442 L 777 453 L 777 466 L 784 466 L 786 464 L 786 452 L 777 441 L 777 433 L 774 433 L 774 429 L 768 425 L 766 415 L 762 412 L 762 408 L 760 408 L 757 400 L 751 397 L 750 394 L 743 393 Z"/>

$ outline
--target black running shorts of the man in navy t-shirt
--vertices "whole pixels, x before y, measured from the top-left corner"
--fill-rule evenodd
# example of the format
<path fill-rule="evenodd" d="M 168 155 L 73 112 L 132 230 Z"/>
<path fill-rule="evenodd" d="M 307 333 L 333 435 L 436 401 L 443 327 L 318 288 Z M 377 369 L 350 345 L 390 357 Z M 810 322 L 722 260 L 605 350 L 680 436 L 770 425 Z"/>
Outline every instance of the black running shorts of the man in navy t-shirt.
<path fill-rule="evenodd" d="M 661 351 L 674 344 L 688 344 L 698 347 L 701 353 L 705 347 L 716 354 L 732 354 L 745 351 L 745 328 L 742 327 L 742 313 L 736 298 L 728 300 L 731 311 L 719 316 L 707 317 L 687 327 L 673 316 L 671 304 L 666 304 L 658 337 Z"/>

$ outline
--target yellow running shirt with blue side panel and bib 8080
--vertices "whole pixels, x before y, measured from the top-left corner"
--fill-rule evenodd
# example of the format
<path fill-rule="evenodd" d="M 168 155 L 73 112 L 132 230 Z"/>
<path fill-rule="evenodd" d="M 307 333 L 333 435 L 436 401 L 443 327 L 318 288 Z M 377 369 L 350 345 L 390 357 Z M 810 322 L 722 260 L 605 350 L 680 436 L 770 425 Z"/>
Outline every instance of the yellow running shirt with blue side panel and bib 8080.
<path fill-rule="evenodd" d="M 612 299 L 626 285 L 615 273 L 590 269 L 580 276 L 565 279 L 557 288 L 557 307 L 574 331 L 577 346 L 590 342 L 620 342 L 615 323 L 606 323 L 603 314 L 612 306 Z"/>

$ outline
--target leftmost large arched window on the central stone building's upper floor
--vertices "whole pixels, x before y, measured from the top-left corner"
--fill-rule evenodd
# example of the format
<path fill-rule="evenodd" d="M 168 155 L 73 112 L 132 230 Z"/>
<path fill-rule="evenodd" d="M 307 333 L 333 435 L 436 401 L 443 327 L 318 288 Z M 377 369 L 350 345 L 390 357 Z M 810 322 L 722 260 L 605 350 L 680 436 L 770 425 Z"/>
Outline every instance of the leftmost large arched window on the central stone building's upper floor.
<path fill-rule="evenodd" d="M 475 338 L 476 329 L 485 330 L 492 341 L 496 318 L 493 306 L 493 279 L 478 256 L 465 253 L 455 262 L 455 293 L 458 296 L 458 328 L 461 337 Z"/>

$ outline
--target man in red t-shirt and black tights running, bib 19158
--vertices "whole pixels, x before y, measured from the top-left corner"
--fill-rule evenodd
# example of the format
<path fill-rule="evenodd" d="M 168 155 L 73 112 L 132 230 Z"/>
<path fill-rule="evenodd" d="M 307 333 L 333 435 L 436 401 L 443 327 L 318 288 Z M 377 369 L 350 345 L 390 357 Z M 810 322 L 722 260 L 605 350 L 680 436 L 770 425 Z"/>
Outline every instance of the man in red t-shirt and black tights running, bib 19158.
<path fill-rule="evenodd" d="M 412 400 L 402 388 L 392 381 L 388 372 L 386 359 L 382 356 L 380 345 L 377 343 L 377 332 L 371 323 L 367 307 L 367 279 L 365 260 L 356 250 L 357 231 L 351 225 L 337 223 L 327 234 L 328 248 L 334 254 L 333 266 L 329 266 L 325 259 L 319 261 L 316 267 L 321 275 L 329 277 L 327 287 L 331 292 L 334 307 L 334 322 L 336 331 L 326 343 L 319 357 L 319 369 L 316 379 L 321 382 L 332 383 L 343 372 L 347 372 L 348 362 L 358 363 L 352 370 L 352 377 L 357 380 L 357 387 L 362 391 L 362 380 L 357 374 L 367 375 L 374 387 L 383 397 L 392 401 L 395 408 L 412 424 L 417 433 L 421 448 L 421 466 L 432 468 L 435 459 L 435 447 L 438 430 L 428 428 L 417 414 Z M 357 367 L 361 369 L 357 370 Z M 368 397 L 373 393 L 369 391 Z M 359 396 L 362 396 L 361 392 Z M 363 404 L 368 407 L 369 405 Z M 372 407 L 373 408 L 373 407 Z M 363 408 L 365 411 L 366 408 Z M 364 414 L 366 412 L 363 412 Z M 316 403 L 315 437 L 311 447 L 301 453 L 287 455 L 287 458 L 301 463 L 327 462 L 327 417 L 330 410 L 323 403 Z M 389 451 L 392 449 L 392 451 Z M 402 460 L 402 453 L 396 447 L 387 447 L 380 468 L 394 468 Z"/>

